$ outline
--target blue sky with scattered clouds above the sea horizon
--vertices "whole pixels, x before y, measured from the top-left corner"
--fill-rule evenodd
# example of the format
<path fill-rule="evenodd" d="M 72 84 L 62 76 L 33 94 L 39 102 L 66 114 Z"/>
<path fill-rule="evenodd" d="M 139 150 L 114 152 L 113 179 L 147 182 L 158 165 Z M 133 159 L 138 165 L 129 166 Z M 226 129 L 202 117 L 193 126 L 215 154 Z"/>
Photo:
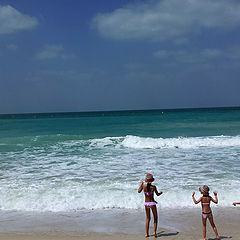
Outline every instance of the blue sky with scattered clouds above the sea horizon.
<path fill-rule="evenodd" d="M 239 0 L 0 0 L 0 113 L 240 106 Z"/>

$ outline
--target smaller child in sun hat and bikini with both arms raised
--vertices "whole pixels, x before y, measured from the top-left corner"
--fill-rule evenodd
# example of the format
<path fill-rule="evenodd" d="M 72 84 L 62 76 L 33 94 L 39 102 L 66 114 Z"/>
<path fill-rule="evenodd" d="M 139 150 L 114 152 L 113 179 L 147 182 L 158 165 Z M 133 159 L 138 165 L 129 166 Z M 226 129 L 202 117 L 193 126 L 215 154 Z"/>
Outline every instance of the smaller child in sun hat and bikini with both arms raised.
<path fill-rule="evenodd" d="M 199 188 L 199 191 L 201 194 L 203 194 L 202 197 L 200 197 L 198 200 L 195 199 L 194 195 L 195 192 L 193 192 L 192 194 L 192 198 L 195 204 L 198 204 L 199 202 L 202 203 L 202 223 L 203 223 L 203 240 L 206 240 L 206 223 L 207 223 L 207 219 L 209 220 L 213 231 L 216 234 L 216 238 L 219 238 L 218 232 L 217 232 L 217 228 L 214 224 L 213 221 L 213 215 L 212 215 L 212 211 L 210 208 L 210 202 L 214 202 L 214 203 L 218 203 L 218 198 L 217 198 L 217 192 L 213 192 L 215 195 L 215 199 L 213 199 L 211 196 L 209 196 L 209 187 L 204 185 L 202 187 Z"/>

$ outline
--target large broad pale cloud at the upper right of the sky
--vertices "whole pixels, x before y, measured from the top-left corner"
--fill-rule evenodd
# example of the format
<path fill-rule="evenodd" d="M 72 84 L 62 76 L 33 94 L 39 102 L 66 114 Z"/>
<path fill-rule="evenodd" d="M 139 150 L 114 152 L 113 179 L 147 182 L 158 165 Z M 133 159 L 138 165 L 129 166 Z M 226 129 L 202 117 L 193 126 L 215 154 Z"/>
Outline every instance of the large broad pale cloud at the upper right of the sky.
<path fill-rule="evenodd" d="M 98 14 L 93 26 L 112 39 L 187 41 L 204 29 L 240 26 L 236 0 L 149 0 Z"/>

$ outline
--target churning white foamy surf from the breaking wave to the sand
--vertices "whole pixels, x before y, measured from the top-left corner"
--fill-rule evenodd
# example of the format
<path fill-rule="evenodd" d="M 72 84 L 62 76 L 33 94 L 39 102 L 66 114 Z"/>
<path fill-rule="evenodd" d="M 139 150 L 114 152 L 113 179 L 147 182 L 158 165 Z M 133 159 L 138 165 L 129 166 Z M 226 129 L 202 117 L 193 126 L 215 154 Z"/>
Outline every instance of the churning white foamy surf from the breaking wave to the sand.
<path fill-rule="evenodd" d="M 156 198 L 163 208 L 195 207 L 191 194 L 202 184 L 219 191 L 219 206 L 240 200 L 240 136 L 34 139 L 0 155 L 2 210 L 143 208 L 137 188 L 146 172 L 164 191 Z"/>

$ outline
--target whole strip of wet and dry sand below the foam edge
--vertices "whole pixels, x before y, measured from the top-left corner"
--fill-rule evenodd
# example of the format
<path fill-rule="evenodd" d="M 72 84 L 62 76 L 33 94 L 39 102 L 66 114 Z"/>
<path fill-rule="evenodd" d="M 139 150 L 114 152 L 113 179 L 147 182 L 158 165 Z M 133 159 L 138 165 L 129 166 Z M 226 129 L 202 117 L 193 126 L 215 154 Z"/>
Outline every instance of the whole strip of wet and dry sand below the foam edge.
<path fill-rule="evenodd" d="M 108 212 L 77 213 L 73 216 L 61 214 L 0 217 L 0 239 L 4 240 L 40 240 L 40 239 L 145 239 L 145 213 L 121 214 Z M 159 209 L 158 237 L 160 239 L 200 239 L 202 238 L 201 209 L 164 210 Z M 100 214 L 100 215 L 99 215 Z M 214 221 L 222 239 L 240 239 L 240 208 L 213 208 Z M 77 217 L 78 215 L 78 217 Z M 98 215 L 98 217 L 97 217 Z M 35 220 L 34 220 L 35 219 Z M 31 223 L 31 224 L 30 224 Z M 103 225 L 105 227 L 103 227 Z M 153 232 L 153 221 L 150 225 Z M 207 239 L 215 235 L 207 224 Z M 151 239 L 153 237 L 150 237 Z"/>

